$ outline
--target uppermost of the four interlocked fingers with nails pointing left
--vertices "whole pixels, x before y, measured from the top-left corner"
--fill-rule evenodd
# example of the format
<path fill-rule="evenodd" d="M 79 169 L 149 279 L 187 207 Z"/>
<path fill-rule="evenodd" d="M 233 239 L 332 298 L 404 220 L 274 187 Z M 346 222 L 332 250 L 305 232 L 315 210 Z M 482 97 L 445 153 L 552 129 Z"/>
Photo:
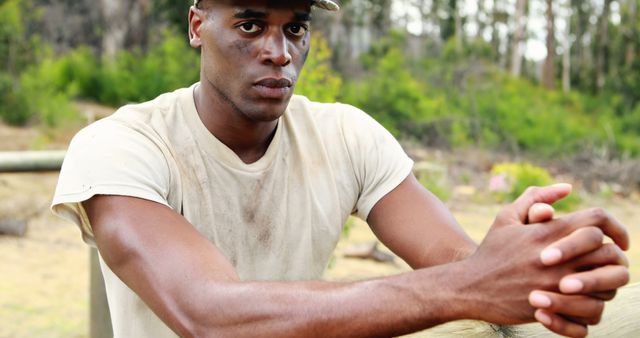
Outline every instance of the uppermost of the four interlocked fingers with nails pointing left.
<path fill-rule="evenodd" d="M 540 252 L 544 265 L 567 262 L 602 246 L 604 234 L 597 227 L 580 228 L 547 246 Z"/>

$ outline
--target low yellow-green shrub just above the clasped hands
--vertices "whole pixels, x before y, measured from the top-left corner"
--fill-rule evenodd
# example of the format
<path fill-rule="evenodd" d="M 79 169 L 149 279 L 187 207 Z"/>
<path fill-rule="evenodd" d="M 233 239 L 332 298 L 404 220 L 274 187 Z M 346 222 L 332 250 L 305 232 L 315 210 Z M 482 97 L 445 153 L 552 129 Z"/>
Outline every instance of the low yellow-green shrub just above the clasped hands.
<path fill-rule="evenodd" d="M 530 163 L 500 163 L 491 169 L 490 190 L 499 201 L 513 201 L 532 186 L 547 186 L 554 183 L 549 172 Z M 558 201 L 554 207 L 558 210 L 570 210 L 580 202 L 580 198 L 569 195 Z"/>

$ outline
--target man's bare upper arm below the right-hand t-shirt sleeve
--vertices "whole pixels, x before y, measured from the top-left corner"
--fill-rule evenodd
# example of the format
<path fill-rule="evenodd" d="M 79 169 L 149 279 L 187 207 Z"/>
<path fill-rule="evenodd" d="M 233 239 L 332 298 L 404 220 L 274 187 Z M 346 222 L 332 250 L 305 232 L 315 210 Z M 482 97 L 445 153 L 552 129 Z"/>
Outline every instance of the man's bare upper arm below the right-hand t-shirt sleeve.
<path fill-rule="evenodd" d="M 413 174 L 374 205 L 367 222 L 380 241 L 413 268 L 459 260 L 476 247 Z"/>

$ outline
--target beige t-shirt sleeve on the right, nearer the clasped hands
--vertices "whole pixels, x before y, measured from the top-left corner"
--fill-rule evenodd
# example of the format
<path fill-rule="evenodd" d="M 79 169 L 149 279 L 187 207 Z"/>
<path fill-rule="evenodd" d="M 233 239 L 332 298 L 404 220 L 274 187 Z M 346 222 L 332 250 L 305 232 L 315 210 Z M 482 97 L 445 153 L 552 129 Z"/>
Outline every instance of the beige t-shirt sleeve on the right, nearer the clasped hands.
<path fill-rule="evenodd" d="M 413 160 L 377 121 L 345 107 L 342 133 L 359 189 L 353 213 L 366 220 L 376 203 L 411 173 Z"/>

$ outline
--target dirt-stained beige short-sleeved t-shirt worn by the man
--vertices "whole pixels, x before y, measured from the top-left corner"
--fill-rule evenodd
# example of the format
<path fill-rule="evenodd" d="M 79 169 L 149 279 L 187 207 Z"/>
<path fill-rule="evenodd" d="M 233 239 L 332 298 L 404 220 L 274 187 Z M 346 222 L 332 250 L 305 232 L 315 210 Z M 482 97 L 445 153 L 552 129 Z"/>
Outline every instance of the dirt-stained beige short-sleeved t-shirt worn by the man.
<path fill-rule="evenodd" d="M 125 195 L 182 214 L 243 280 L 321 277 L 350 214 L 366 219 L 411 171 L 362 111 L 294 96 L 265 155 L 245 164 L 201 122 L 191 88 L 129 105 L 72 140 L 52 210 L 94 244 L 81 202 Z M 116 337 L 172 337 L 101 262 Z"/>

